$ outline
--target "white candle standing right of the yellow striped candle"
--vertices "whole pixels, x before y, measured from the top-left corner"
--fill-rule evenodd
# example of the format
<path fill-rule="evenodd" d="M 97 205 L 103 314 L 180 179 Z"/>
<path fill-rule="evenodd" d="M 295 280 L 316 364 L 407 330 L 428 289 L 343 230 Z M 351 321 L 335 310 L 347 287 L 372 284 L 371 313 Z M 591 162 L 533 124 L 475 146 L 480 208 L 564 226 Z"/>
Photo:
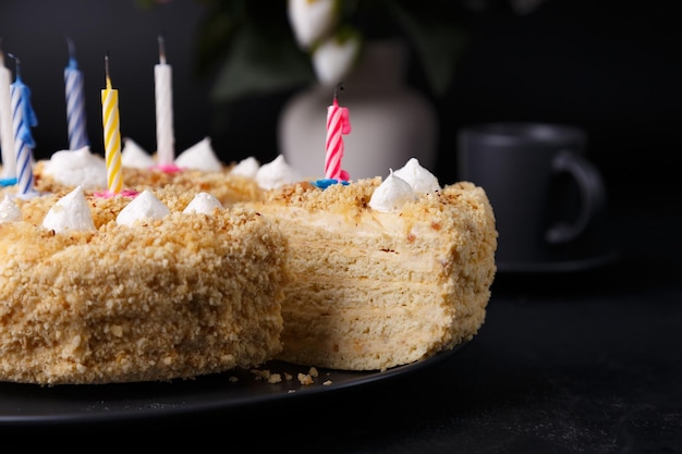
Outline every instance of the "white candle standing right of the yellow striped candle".
<path fill-rule="evenodd" d="M 166 62 L 163 37 L 159 36 L 159 63 L 154 66 L 156 95 L 157 159 L 161 167 L 174 161 L 172 71 Z"/>

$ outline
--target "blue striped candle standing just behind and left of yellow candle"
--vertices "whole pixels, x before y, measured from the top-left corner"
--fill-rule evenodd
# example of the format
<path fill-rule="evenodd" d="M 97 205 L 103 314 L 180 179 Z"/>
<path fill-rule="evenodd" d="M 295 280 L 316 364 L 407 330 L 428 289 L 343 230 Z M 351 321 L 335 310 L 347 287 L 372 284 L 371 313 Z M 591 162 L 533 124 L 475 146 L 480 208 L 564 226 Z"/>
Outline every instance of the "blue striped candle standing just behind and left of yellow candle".
<path fill-rule="evenodd" d="M 71 39 L 69 44 L 69 64 L 64 69 L 64 89 L 66 95 L 66 123 L 69 126 L 69 149 L 77 150 L 89 145 L 85 123 L 85 96 L 83 94 L 83 73 L 78 70 L 75 50 Z"/>

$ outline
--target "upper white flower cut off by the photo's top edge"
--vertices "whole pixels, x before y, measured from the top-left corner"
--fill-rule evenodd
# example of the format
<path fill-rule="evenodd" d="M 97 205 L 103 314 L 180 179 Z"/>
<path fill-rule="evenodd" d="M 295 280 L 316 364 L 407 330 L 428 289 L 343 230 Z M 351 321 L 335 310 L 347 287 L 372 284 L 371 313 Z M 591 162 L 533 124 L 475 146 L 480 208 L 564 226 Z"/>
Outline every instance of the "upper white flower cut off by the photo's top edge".
<path fill-rule="evenodd" d="M 287 7 L 296 42 L 306 50 L 328 35 L 339 17 L 337 0 L 289 0 Z"/>

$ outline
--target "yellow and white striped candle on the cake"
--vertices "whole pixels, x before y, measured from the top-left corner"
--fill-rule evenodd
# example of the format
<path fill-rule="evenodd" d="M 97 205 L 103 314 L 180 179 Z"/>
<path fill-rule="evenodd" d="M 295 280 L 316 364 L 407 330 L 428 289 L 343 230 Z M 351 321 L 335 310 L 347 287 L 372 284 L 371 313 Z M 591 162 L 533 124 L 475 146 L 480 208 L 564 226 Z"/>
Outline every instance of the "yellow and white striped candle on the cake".
<path fill-rule="evenodd" d="M 121 133 L 119 131 L 119 90 L 111 88 L 109 56 L 105 57 L 107 87 L 101 90 L 101 118 L 105 131 L 105 161 L 107 164 L 107 189 L 119 194 L 123 187 L 121 175 Z"/>

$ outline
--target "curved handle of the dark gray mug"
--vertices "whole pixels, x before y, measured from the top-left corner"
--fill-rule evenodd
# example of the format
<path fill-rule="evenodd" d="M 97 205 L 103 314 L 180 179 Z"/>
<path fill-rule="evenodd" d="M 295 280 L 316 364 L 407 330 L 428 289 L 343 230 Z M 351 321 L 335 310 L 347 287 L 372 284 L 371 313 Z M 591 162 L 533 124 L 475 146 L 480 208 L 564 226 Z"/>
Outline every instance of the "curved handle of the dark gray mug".
<path fill-rule="evenodd" d="M 572 223 L 559 222 L 545 233 L 550 244 L 568 243 L 579 237 L 602 211 L 606 191 L 601 174 L 582 156 L 563 150 L 552 161 L 555 172 L 565 172 L 576 182 L 580 194 L 580 212 Z"/>

